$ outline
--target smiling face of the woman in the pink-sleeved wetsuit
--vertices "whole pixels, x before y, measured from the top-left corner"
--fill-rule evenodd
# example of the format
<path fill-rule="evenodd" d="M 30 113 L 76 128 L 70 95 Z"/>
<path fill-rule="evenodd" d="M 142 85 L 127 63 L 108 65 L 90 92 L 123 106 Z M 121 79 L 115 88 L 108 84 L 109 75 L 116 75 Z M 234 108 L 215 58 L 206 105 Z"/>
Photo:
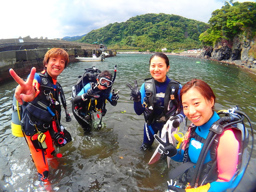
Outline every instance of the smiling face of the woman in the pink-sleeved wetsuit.
<path fill-rule="evenodd" d="M 196 126 L 205 124 L 212 116 L 214 98 L 207 100 L 196 88 L 190 88 L 182 95 L 184 115 Z"/>

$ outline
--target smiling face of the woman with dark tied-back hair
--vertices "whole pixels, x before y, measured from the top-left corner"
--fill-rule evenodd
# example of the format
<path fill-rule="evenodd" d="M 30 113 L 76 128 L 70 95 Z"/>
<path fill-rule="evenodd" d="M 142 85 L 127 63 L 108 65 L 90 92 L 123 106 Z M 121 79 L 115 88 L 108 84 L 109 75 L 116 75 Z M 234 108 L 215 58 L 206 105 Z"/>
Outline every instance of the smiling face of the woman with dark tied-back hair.
<path fill-rule="evenodd" d="M 166 74 L 169 71 L 166 61 L 160 56 L 154 56 L 150 61 L 150 74 L 158 82 L 166 81 Z"/>

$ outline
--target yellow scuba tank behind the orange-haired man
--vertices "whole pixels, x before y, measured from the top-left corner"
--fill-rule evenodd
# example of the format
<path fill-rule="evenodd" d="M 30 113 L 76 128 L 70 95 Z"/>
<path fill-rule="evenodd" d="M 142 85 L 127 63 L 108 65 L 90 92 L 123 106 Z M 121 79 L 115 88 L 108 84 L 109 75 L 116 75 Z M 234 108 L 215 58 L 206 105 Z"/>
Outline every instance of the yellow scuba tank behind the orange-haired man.
<path fill-rule="evenodd" d="M 23 131 L 20 125 L 20 109 L 21 106 L 19 102 L 13 96 L 13 103 L 12 103 L 12 114 L 11 114 L 11 133 L 16 137 L 23 137 Z"/>

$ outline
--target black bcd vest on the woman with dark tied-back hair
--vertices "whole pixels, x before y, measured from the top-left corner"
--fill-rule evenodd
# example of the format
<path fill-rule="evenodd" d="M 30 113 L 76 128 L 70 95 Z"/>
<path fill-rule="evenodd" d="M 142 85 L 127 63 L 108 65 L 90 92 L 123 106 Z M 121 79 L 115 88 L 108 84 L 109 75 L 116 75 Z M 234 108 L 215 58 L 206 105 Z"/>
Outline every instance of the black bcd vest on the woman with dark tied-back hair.
<path fill-rule="evenodd" d="M 145 107 L 144 110 L 144 118 L 147 124 L 152 124 L 154 121 L 159 121 L 165 123 L 169 117 L 176 115 L 179 113 L 177 111 L 179 98 L 178 98 L 178 90 L 180 88 L 180 83 L 170 79 L 168 86 L 166 87 L 165 91 L 165 98 L 164 98 L 164 107 L 163 112 L 159 117 L 155 117 L 154 110 L 155 110 L 155 100 L 156 100 L 156 88 L 155 88 L 155 80 L 154 78 L 145 79 Z M 144 104 L 144 103 L 143 103 Z M 170 109 L 168 107 L 171 105 Z"/>

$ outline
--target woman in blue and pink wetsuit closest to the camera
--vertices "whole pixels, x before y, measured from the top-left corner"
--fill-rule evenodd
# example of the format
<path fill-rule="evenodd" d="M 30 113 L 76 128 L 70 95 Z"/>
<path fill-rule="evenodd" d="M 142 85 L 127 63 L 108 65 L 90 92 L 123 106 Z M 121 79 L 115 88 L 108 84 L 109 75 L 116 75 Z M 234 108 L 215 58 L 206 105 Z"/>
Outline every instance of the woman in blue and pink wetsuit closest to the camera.
<path fill-rule="evenodd" d="M 169 176 L 174 176 L 173 179 L 181 175 L 179 186 L 175 186 L 172 181 L 168 183 L 170 191 L 222 192 L 233 187 L 238 164 L 239 142 L 236 137 L 237 129 L 231 126 L 216 137 L 215 142 L 206 152 L 206 157 L 204 161 L 202 160 L 203 166 L 196 175 L 196 184 L 193 178 L 196 174 L 196 163 L 199 161 L 204 143 L 207 143 L 210 128 L 213 124 L 220 125 L 215 123 L 220 119 L 214 111 L 215 99 L 215 94 L 207 83 L 192 79 L 181 89 L 183 111 L 192 122 L 184 136 L 181 149 L 177 150 L 169 142 L 163 143 L 156 136 L 159 143 L 163 144 L 162 151 L 165 154 L 175 161 L 184 162 L 183 167 L 190 164 L 181 174 L 170 172 Z M 186 189 L 183 189 L 185 187 Z"/>

